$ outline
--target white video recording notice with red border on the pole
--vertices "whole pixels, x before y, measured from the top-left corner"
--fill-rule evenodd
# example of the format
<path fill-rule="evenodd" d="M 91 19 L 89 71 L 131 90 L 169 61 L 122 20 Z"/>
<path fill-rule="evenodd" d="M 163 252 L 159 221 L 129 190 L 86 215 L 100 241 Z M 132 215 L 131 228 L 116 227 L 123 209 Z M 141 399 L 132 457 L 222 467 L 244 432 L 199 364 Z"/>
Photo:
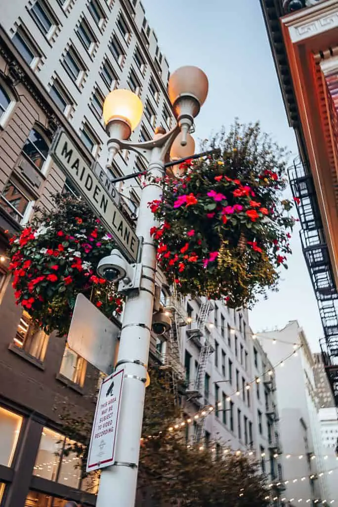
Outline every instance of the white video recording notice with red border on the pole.
<path fill-rule="evenodd" d="M 101 384 L 89 444 L 87 472 L 114 463 L 123 376 L 124 370 L 121 369 L 105 378 Z"/>

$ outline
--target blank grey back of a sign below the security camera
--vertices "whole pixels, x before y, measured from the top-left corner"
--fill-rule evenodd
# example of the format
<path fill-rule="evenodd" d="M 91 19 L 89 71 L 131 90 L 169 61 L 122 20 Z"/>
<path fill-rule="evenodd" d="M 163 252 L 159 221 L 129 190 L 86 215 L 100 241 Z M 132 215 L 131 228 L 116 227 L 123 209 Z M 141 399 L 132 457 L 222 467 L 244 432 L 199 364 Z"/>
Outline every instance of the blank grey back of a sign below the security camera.
<path fill-rule="evenodd" d="M 120 328 L 83 294 L 78 294 L 67 336 L 69 347 L 110 375 L 116 363 Z"/>

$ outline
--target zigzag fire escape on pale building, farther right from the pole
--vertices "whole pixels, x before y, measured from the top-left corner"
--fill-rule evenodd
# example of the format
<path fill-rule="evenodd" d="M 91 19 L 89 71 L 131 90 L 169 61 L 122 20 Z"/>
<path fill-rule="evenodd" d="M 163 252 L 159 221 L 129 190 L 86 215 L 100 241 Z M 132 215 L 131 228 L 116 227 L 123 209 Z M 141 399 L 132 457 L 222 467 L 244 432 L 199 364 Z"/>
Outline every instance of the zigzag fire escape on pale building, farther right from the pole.
<path fill-rule="evenodd" d="M 207 316 L 212 309 L 213 307 L 210 304 L 210 301 L 206 300 L 202 302 L 196 322 L 193 322 L 190 328 L 187 329 L 188 338 L 192 340 L 195 345 L 197 345 L 197 347 L 200 349 L 200 352 L 196 377 L 192 385 L 188 386 L 186 395 L 188 396 L 188 399 L 194 400 L 195 402 L 198 402 L 198 400 L 202 398 L 203 403 L 200 405 L 205 405 L 205 407 L 201 409 L 202 417 L 196 420 L 196 429 L 194 435 L 195 444 L 200 442 L 204 436 L 205 415 L 209 413 L 208 400 L 204 399 L 204 379 L 207 360 L 209 355 L 214 352 L 214 347 L 210 342 L 209 336 L 205 333 L 205 324 Z"/>

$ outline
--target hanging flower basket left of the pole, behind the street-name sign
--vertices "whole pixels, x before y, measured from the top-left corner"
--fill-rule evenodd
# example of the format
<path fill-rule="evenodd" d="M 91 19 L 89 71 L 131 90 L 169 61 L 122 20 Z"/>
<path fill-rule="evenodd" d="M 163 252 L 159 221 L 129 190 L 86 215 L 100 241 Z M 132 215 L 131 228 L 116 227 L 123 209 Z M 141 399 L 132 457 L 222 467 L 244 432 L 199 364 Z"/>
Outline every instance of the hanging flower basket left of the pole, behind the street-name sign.
<path fill-rule="evenodd" d="M 96 275 L 114 243 L 83 200 L 55 196 L 56 208 L 40 210 L 10 240 L 13 287 L 21 304 L 46 333 L 67 334 L 76 296 L 89 298 L 108 318 L 119 314 L 115 286 Z"/>

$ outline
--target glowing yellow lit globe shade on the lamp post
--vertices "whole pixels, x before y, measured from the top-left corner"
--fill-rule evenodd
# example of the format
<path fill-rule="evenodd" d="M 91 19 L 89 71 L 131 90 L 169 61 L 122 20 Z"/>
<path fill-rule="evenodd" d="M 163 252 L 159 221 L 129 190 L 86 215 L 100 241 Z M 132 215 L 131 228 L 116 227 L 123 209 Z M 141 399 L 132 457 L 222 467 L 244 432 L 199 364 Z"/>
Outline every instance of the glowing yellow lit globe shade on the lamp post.
<path fill-rule="evenodd" d="M 122 121 L 135 130 L 141 121 L 143 105 L 140 97 L 131 90 L 117 89 L 108 93 L 103 104 L 103 120 L 105 125 Z"/>

